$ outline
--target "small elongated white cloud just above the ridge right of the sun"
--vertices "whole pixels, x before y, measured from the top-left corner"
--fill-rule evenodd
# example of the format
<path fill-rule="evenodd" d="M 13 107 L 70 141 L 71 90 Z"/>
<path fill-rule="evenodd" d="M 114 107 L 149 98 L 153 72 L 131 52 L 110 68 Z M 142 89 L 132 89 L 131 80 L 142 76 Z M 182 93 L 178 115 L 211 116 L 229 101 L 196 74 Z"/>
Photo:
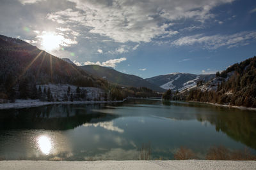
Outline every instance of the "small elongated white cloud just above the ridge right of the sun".
<path fill-rule="evenodd" d="M 84 62 L 83 64 L 81 64 L 81 62 L 76 62 L 76 60 L 74 60 L 74 63 L 77 65 L 77 66 L 82 66 L 82 65 L 99 65 L 99 66 L 104 66 L 104 67 L 113 67 L 115 68 L 116 67 L 116 64 L 122 62 L 126 60 L 125 57 L 122 57 L 120 59 L 111 59 L 111 60 L 107 60 L 105 62 L 90 62 L 90 61 L 86 61 Z"/>

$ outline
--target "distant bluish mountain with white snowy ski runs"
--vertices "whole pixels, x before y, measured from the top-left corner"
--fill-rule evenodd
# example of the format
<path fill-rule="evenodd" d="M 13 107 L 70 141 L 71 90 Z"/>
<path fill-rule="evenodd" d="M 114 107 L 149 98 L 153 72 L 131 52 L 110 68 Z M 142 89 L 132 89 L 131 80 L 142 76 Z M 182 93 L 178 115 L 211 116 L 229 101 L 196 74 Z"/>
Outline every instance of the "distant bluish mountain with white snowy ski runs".
<path fill-rule="evenodd" d="M 198 81 L 209 81 L 214 77 L 215 74 L 171 73 L 146 78 L 145 80 L 166 90 L 182 91 L 195 87 Z"/>

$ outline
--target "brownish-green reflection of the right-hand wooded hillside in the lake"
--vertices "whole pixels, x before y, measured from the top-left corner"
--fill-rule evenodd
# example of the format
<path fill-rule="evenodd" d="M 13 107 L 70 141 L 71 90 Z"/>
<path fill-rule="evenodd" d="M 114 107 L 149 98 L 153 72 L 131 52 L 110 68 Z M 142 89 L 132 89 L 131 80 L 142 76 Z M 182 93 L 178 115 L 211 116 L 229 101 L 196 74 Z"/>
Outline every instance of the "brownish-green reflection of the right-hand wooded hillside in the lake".
<path fill-rule="evenodd" d="M 218 111 L 216 114 L 198 114 L 200 122 L 210 122 L 216 126 L 216 131 L 225 132 L 236 141 L 256 149 L 256 117 L 252 111 L 242 110 Z"/>

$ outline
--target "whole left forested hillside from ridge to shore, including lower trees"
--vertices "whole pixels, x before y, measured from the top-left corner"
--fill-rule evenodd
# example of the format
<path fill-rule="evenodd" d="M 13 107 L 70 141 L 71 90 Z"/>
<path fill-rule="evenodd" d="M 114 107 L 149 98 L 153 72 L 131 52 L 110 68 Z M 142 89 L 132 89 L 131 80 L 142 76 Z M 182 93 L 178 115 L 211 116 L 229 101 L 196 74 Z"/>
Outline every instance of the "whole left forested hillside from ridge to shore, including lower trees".
<path fill-rule="evenodd" d="M 65 89 L 58 95 L 57 89 L 50 84 L 60 85 Z M 44 89 L 39 88 L 42 85 Z M 87 92 L 68 93 L 67 86 L 97 87 L 95 95 L 84 96 Z M 45 89 L 47 87 L 47 89 Z M 46 92 L 47 91 L 47 92 Z M 87 90 L 88 91 L 88 90 Z M 96 95 L 97 94 L 97 95 Z M 97 97 L 101 95 L 101 97 Z M 59 96 L 59 97 L 58 97 Z M 79 97 L 76 97 L 79 96 Z M 0 35 L 0 103 L 15 102 L 15 99 L 40 99 L 42 101 L 73 100 L 121 100 L 125 97 L 156 97 L 156 92 L 145 87 L 125 87 L 108 83 L 103 78 L 95 77 L 25 41 Z"/>

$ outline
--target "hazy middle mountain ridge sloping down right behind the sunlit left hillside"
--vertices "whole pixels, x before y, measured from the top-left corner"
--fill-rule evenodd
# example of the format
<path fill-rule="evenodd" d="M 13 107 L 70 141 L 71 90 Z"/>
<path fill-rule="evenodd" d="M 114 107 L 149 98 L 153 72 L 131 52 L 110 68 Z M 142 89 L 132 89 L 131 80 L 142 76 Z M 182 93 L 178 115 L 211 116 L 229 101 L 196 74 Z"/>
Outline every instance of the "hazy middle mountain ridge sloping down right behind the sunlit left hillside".
<path fill-rule="evenodd" d="M 147 87 L 148 89 L 152 89 L 156 92 L 165 91 L 161 87 L 154 85 L 139 76 L 134 76 L 131 74 L 121 73 L 116 71 L 113 68 L 102 67 L 98 65 L 86 65 L 80 66 L 84 71 L 91 73 L 93 76 L 97 76 L 99 78 L 104 78 L 112 83 L 123 86 L 132 86 L 132 87 Z"/>

